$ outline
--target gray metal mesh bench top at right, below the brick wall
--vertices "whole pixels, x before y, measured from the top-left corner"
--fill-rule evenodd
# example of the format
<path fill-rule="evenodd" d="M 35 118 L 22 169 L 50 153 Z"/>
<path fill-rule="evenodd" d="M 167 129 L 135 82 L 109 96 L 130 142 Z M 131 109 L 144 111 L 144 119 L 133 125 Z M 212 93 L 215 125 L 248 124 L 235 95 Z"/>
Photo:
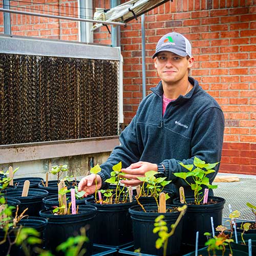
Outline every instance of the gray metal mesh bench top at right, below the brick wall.
<path fill-rule="evenodd" d="M 226 200 L 223 209 L 224 218 L 228 218 L 228 204 L 231 204 L 232 210 L 240 212 L 239 219 L 255 220 L 255 216 L 246 203 L 256 205 L 256 179 L 240 178 L 239 182 L 214 182 L 212 184 L 218 185 L 218 188 L 214 189 L 214 195 Z"/>

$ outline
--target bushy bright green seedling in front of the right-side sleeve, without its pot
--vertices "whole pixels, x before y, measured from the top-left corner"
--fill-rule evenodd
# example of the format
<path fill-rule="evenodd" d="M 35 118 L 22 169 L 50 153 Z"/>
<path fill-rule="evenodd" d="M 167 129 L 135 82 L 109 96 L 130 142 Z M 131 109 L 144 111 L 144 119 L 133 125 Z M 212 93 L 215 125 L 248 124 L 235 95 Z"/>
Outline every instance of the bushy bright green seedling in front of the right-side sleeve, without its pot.
<path fill-rule="evenodd" d="M 193 164 L 183 164 L 180 162 L 180 165 L 188 170 L 185 173 L 174 173 L 176 177 L 179 177 L 194 190 L 194 203 L 199 205 L 203 199 L 204 195 L 202 193 L 202 185 L 207 186 L 208 188 L 217 188 L 217 185 L 211 185 L 209 183 L 209 178 L 206 177 L 208 174 L 214 173 L 213 169 L 217 163 L 205 163 L 205 161 L 195 157 Z M 190 178 L 189 178 L 190 177 Z M 187 180 L 189 178 L 189 181 Z"/>

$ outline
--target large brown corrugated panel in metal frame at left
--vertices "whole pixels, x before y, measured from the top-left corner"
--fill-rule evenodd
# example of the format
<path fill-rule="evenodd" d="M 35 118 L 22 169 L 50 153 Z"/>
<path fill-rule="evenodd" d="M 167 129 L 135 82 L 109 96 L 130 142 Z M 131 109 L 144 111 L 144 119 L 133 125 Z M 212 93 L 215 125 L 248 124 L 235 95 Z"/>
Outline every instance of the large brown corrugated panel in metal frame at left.
<path fill-rule="evenodd" d="M 0 54 L 0 144 L 118 134 L 118 61 Z"/>

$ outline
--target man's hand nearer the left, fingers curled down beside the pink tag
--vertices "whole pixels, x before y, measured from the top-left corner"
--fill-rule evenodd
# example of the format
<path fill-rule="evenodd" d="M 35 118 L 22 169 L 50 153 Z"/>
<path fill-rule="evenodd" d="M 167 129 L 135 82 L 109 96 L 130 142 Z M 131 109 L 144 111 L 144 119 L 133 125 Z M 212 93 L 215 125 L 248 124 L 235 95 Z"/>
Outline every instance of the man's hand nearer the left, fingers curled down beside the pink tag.
<path fill-rule="evenodd" d="M 79 184 L 78 184 L 78 191 L 84 191 L 86 194 L 84 194 L 84 197 L 87 197 L 88 195 L 91 195 L 95 193 L 96 190 L 96 182 L 97 181 L 97 190 L 101 188 L 102 181 L 101 177 L 98 174 L 90 174 L 86 177 L 83 177 Z"/>

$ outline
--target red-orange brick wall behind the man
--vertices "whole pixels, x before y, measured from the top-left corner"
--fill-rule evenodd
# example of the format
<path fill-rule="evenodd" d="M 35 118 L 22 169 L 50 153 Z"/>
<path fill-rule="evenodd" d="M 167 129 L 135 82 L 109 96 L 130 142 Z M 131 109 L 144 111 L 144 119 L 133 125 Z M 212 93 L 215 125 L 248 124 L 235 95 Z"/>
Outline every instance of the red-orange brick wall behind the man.
<path fill-rule="evenodd" d="M 61 10 L 57 6 L 53 10 L 68 14 L 74 12 L 71 7 L 77 3 L 62 0 L 34 2 L 65 4 Z M 15 2 L 11 3 L 14 5 Z M 97 0 L 94 5 L 110 8 L 110 1 Z M 44 5 L 38 6 L 43 8 Z M 32 8 L 35 8 L 34 4 Z M 77 23 L 43 18 L 38 24 L 32 18 L 11 16 L 13 26 L 16 26 L 13 34 L 35 33 L 39 37 L 78 40 Z M 0 32 L 3 31 L 2 20 L 0 13 Z M 142 97 L 140 22 L 139 17 L 137 21 L 129 22 L 126 28 L 121 27 L 125 124 L 132 120 Z M 36 24 L 43 28 L 39 31 Z M 225 142 L 221 172 L 256 175 L 256 7 L 253 0 L 174 0 L 146 13 L 147 93 L 159 81 L 151 59 L 156 42 L 171 31 L 183 33 L 191 41 L 195 56 L 191 76 L 219 102 L 224 111 Z M 105 27 L 95 31 L 94 39 L 97 43 L 111 44 L 111 36 Z"/>

